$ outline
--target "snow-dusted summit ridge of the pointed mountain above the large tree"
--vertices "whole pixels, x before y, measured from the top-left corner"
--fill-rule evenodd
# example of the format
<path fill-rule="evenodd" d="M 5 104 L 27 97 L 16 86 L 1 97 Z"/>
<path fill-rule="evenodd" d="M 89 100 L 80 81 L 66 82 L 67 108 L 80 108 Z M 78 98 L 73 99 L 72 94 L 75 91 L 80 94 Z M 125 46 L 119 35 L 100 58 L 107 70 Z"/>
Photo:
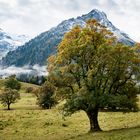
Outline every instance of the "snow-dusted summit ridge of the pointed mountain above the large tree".
<path fill-rule="evenodd" d="M 93 9 L 88 14 L 78 16 L 77 18 L 70 18 L 68 20 L 64 20 L 58 26 L 52 28 L 50 31 L 53 34 L 58 31 L 61 33 L 66 33 L 75 25 L 80 25 L 82 27 L 85 26 L 86 21 L 89 19 L 96 19 L 102 25 L 107 27 L 107 29 L 110 30 L 114 34 L 114 36 L 117 37 L 119 42 L 123 42 L 129 46 L 133 46 L 135 44 L 135 42 L 126 33 L 120 31 L 108 20 L 107 15 L 104 12 L 97 9 Z"/>

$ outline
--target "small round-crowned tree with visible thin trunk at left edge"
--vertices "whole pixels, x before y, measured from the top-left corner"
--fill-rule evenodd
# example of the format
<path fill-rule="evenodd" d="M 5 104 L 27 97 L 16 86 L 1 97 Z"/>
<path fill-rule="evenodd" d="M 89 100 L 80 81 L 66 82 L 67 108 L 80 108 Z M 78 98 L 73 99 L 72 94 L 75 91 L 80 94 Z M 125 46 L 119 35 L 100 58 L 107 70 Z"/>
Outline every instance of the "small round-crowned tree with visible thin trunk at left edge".
<path fill-rule="evenodd" d="M 10 105 L 17 102 L 18 99 L 20 99 L 20 94 L 15 89 L 6 88 L 0 94 L 1 104 L 7 106 L 8 110 L 10 110 Z"/>

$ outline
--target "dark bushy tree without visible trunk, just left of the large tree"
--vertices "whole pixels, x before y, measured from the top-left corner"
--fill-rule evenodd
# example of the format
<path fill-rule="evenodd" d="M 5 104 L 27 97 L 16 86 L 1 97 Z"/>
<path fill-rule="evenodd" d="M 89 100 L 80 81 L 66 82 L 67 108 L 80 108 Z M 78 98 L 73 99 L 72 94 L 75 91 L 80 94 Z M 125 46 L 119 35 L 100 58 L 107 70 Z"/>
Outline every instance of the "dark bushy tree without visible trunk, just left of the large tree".
<path fill-rule="evenodd" d="M 56 100 L 53 95 L 54 87 L 50 83 L 46 82 L 37 94 L 37 104 L 44 109 L 51 109 L 51 107 L 56 104 Z"/>

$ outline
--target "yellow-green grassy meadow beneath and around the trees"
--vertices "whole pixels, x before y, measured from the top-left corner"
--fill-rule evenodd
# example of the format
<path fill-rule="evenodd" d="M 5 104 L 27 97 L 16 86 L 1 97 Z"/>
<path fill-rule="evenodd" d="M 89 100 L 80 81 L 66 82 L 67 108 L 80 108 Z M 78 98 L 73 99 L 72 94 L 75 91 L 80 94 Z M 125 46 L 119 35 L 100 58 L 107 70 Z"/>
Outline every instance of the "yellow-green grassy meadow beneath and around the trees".
<path fill-rule="evenodd" d="M 27 86 L 34 87 L 22 83 L 21 99 L 11 111 L 0 105 L 0 140 L 140 140 L 140 112 L 100 112 L 104 132 L 89 134 L 84 112 L 64 119 L 57 107 L 41 110 L 36 97 L 25 93 Z"/>

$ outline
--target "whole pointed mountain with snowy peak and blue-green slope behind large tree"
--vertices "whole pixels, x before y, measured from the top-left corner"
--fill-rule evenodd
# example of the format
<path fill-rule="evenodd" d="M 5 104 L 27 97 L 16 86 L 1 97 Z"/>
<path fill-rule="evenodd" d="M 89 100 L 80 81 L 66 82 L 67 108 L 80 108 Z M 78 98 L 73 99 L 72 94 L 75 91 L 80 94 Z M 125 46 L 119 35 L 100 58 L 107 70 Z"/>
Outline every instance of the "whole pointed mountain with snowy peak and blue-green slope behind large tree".
<path fill-rule="evenodd" d="M 62 40 L 64 34 L 75 25 L 84 26 L 88 19 L 98 20 L 102 25 L 106 26 L 114 33 L 119 42 L 129 46 L 133 46 L 135 44 L 127 34 L 120 31 L 107 19 L 104 12 L 94 9 L 88 14 L 65 20 L 58 26 L 40 34 L 18 49 L 10 51 L 6 57 L 2 59 L 2 65 L 15 65 L 18 67 L 35 64 L 45 65 L 47 58 L 56 53 L 57 45 Z"/>

